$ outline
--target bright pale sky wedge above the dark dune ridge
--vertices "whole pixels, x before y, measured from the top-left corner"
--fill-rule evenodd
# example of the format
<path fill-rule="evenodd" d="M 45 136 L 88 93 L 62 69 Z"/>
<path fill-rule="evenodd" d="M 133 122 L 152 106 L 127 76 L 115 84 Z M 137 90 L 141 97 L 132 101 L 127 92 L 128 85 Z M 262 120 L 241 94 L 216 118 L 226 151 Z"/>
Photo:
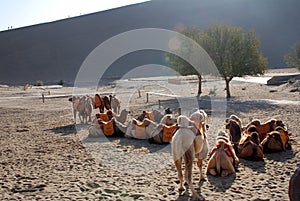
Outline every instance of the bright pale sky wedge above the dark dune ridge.
<path fill-rule="evenodd" d="M 0 0 L 0 31 L 51 22 L 147 0 Z"/>

